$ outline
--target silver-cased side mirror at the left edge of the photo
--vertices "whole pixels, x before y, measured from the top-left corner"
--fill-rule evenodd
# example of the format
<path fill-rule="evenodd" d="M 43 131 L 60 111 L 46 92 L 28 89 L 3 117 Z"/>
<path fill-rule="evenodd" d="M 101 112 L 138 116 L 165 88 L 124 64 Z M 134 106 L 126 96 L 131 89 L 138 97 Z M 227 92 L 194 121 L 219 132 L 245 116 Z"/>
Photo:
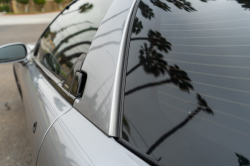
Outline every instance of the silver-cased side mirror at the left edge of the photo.
<path fill-rule="evenodd" d="M 0 46 L 0 63 L 24 61 L 26 56 L 27 48 L 22 43 Z"/>

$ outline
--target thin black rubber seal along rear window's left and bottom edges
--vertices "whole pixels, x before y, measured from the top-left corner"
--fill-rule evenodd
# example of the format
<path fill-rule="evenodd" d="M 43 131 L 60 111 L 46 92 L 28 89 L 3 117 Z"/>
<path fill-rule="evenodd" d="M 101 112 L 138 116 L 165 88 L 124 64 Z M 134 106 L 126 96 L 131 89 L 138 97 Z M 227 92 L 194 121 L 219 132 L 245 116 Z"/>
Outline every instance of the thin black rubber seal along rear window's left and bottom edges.
<path fill-rule="evenodd" d="M 115 138 L 115 140 L 121 144 L 123 147 L 131 151 L 133 154 L 141 158 L 143 161 L 146 163 L 152 165 L 152 166 L 163 166 L 160 162 L 154 160 L 152 157 L 148 156 L 147 154 L 141 152 L 138 148 L 134 147 L 130 143 L 128 143 L 126 140 L 122 138 L 122 118 L 123 118 L 123 113 L 124 113 L 124 94 L 125 94 L 125 87 L 126 87 L 126 73 L 127 73 L 127 64 L 128 64 L 128 57 L 129 57 L 129 49 L 130 49 L 130 39 L 132 35 L 132 29 L 133 29 L 133 24 L 134 20 L 136 18 L 136 14 L 138 11 L 138 7 L 140 4 L 141 0 L 137 0 L 134 9 L 133 9 L 133 14 L 132 17 L 130 18 L 129 21 L 129 30 L 127 34 L 127 41 L 125 44 L 125 52 L 124 52 L 124 64 L 123 64 L 123 73 L 122 73 L 122 85 L 121 85 L 121 95 L 120 95 L 120 102 L 119 102 L 119 131 L 118 131 L 118 137 Z"/>

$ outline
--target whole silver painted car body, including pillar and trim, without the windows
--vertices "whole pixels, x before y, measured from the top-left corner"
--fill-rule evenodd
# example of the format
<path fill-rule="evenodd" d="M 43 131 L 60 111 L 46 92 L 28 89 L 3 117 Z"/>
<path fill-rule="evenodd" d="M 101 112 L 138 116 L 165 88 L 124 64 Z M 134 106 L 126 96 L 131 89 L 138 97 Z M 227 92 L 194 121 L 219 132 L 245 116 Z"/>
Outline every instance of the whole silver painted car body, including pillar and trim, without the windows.
<path fill-rule="evenodd" d="M 35 60 L 33 52 L 28 55 L 28 63 L 14 65 L 34 165 L 148 165 L 114 138 L 119 136 L 126 39 L 137 2 L 112 3 L 81 68 L 88 74 L 84 95 L 75 99 L 73 105 L 55 89 L 60 89 L 60 80 Z M 109 33 L 112 30 L 117 32 Z"/>

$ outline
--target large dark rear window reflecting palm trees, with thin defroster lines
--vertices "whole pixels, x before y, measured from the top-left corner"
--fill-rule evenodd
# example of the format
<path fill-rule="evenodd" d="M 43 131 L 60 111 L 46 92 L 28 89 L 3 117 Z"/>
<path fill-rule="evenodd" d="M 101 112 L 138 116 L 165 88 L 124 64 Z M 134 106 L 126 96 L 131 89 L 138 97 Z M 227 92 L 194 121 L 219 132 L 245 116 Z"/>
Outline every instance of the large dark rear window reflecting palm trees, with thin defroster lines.
<path fill-rule="evenodd" d="M 164 165 L 250 165 L 250 3 L 142 0 L 122 137 Z"/>

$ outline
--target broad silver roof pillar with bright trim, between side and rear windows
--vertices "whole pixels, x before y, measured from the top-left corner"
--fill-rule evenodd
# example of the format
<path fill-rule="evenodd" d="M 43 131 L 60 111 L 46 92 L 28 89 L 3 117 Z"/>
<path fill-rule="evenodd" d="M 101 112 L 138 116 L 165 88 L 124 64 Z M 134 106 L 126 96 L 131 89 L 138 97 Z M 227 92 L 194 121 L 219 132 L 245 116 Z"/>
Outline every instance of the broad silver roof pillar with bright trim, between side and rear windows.
<path fill-rule="evenodd" d="M 85 91 L 74 107 L 108 136 L 118 136 L 119 97 L 126 35 L 136 0 L 115 0 L 82 66 Z"/>

